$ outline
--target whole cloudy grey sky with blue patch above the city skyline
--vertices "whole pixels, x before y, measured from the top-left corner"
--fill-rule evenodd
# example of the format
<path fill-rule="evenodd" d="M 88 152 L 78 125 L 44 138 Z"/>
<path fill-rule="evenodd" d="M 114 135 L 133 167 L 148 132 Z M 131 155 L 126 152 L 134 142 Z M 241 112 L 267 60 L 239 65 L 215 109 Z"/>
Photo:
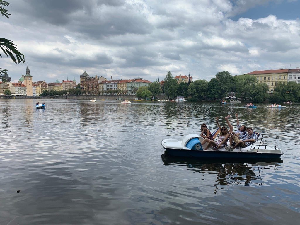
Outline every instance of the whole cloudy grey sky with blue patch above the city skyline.
<path fill-rule="evenodd" d="M 300 67 L 300 0 L 6 0 L 1 37 L 26 65 L 0 58 L 12 81 L 26 73 L 55 82 L 85 70 L 150 81 L 190 73 Z M 291 64 L 291 65 L 290 65 Z"/>

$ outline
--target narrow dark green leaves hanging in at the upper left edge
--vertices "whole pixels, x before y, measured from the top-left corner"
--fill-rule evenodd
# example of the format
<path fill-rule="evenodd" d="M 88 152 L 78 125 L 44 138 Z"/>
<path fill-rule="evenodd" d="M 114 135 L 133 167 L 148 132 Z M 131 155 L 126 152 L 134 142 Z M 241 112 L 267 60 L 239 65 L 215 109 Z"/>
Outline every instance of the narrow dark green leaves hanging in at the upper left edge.
<path fill-rule="evenodd" d="M 0 0 L 0 13 L 2 14 L 2 16 L 6 16 L 7 18 L 9 18 L 8 16 L 10 14 L 8 13 L 9 11 L 5 7 L 9 5 L 10 3 L 8 3 L 7 1 Z M 2 52 L 4 52 L 7 58 L 11 58 L 11 60 L 13 60 L 14 63 L 16 64 L 19 64 L 20 62 L 23 62 L 23 64 L 25 63 L 25 56 L 18 51 L 16 45 L 13 44 L 12 41 L 5 38 L 0 38 L 0 49 L 2 50 Z M 2 58 L 1 54 L 0 57 Z M 0 75 L 3 76 L 6 71 L 7 71 L 6 69 L 0 68 Z M 1 81 L 1 77 L 0 77 L 0 81 Z"/>

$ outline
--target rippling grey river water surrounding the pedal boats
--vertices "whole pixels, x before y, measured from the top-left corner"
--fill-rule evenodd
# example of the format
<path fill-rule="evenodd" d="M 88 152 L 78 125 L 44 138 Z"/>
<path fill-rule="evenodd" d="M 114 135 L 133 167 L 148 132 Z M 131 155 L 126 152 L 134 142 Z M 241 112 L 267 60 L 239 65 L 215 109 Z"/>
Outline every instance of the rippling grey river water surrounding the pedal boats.
<path fill-rule="evenodd" d="M 297 224 L 300 105 L 0 99 L 0 224 Z M 42 100 L 41 100 L 42 101 Z M 280 146 L 279 162 L 167 157 L 230 121 Z M 17 193 L 17 190 L 20 190 Z"/>

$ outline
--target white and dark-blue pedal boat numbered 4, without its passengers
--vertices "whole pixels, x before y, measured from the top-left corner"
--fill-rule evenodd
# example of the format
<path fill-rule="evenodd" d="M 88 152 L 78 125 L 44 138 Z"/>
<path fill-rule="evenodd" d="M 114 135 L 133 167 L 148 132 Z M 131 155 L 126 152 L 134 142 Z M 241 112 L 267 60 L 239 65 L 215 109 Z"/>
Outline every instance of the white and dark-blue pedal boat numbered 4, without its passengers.
<path fill-rule="evenodd" d="M 246 148 L 236 148 L 233 151 L 223 149 L 209 148 L 205 149 L 207 143 L 203 146 L 201 141 L 203 138 L 198 134 L 189 134 L 179 140 L 162 140 L 161 145 L 166 152 L 171 156 L 177 157 L 193 157 L 193 158 L 280 158 L 283 153 L 277 146 L 270 147 L 264 145 L 267 141 L 262 143 L 256 141 Z"/>

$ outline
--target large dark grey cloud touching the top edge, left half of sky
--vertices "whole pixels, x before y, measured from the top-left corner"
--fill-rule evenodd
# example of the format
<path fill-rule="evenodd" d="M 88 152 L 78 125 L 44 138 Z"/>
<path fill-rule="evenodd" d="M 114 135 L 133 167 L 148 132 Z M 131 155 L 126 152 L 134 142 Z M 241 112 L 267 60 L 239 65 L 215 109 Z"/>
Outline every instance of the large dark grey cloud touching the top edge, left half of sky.
<path fill-rule="evenodd" d="M 27 12 L 30 22 L 42 20 L 77 32 L 79 37 L 102 39 L 127 33 L 146 34 L 154 28 L 143 14 L 124 1 L 29 0 L 21 4 L 22 7 L 15 2 L 12 6 L 19 13 Z M 29 26 L 28 21 L 26 24 Z"/>

